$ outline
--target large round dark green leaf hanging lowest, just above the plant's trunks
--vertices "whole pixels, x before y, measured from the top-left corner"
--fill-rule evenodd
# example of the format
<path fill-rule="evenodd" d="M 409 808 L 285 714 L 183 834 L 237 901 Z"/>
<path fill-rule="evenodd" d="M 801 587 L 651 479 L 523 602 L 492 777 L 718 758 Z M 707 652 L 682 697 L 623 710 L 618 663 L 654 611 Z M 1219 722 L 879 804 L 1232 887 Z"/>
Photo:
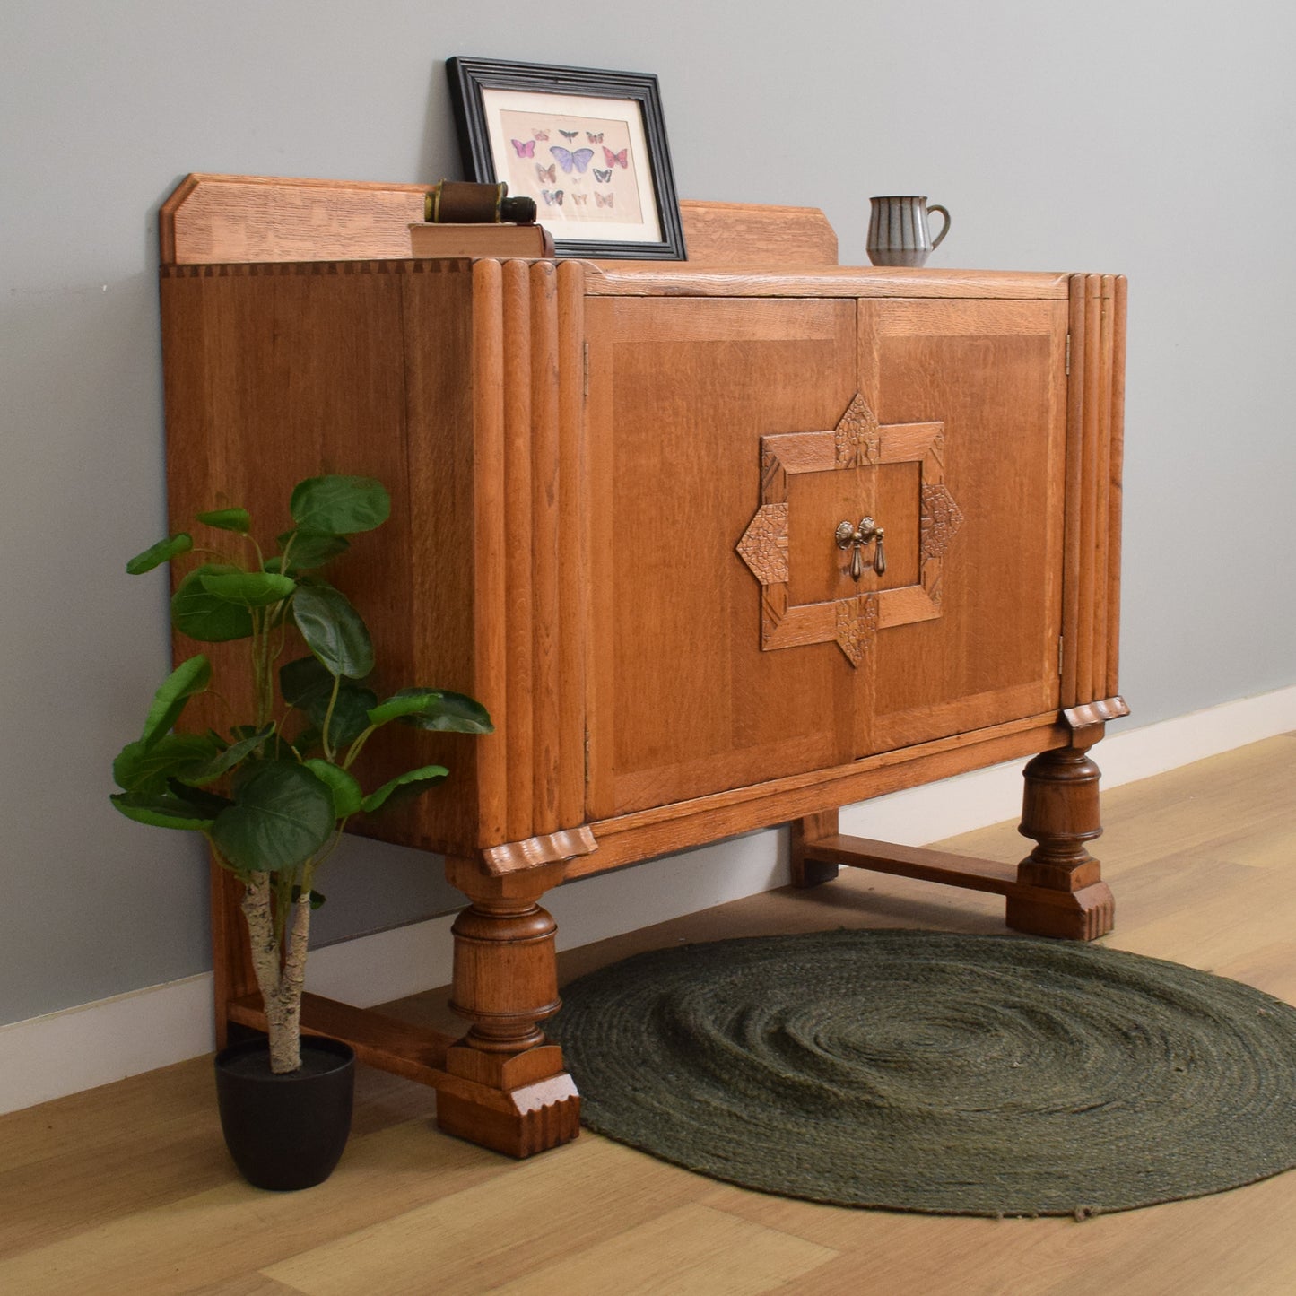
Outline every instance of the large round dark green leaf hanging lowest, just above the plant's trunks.
<path fill-rule="evenodd" d="M 333 797 L 302 765 L 259 761 L 216 815 L 211 839 L 242 874 L 281 872 L 310 859 L 333 833 Z"/>

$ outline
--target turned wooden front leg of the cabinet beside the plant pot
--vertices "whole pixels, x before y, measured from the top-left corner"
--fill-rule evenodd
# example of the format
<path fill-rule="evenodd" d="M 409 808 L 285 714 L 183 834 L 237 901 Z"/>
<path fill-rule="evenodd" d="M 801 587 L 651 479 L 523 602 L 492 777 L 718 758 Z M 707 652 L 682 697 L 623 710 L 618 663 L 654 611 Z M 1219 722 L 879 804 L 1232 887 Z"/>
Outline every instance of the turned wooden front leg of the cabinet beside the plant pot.
<path fill-rule="evenodd" d="M 562 1050 L 540 1028 L 559 1011 L 557 925 L 537 901 L 562 866 L 490 876 L 447 859 L 446 875 L 472 901 L 451 929 L 451 1007 L 473 1024 L 446 1054 L 437 1124 L 509 1156 L 543 1152 L 575 1138 L 581 1115 Z"/>

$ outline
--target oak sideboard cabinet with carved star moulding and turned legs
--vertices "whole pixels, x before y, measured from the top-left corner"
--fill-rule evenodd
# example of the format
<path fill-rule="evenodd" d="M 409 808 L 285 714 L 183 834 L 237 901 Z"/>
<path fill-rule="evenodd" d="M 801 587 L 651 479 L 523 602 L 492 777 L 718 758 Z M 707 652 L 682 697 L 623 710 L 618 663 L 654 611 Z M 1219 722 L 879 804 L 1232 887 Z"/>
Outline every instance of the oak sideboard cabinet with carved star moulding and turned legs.
<path fill-rule="evenodd" d="M 540 1026 L 564 879 L 792 822 L 802 885 L 857 864 L 1107 931 L 1124 281 L 841 268 L 818 213 L 687 203 L 687 264 L 411 260 L 420 193 L 191 178 L 163 211 L 172 512 L 382 478 L 394 520 L 340 583 L 394 675 L 498 724 L 446 736 L 451 783 L 384 829 L 472 901 L 468 1036 L 319 1028 L 524 1155 L 575 1133 Z M 837 833 L 1032 753 L 1017 871 Z M 255 1021 L 228 899 L 222 1019 Z"/>

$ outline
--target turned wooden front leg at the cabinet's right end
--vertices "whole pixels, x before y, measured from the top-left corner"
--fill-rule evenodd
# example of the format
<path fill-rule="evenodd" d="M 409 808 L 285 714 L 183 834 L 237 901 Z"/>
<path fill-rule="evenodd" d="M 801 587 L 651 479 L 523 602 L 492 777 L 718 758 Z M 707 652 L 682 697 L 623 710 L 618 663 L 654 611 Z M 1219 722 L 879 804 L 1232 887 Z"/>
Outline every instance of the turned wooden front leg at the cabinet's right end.
<path fill-rule="evenodd" d="M 1037 845 L 1017 866 L 1008 927 L 1074 941 L 1093 941 L 1112 929 L 1112 893 L 1085 848 L 1103 832 L 1098 778 L 1083 746 L 1043 752 L 1026 765 L 1019 831 Z"/>

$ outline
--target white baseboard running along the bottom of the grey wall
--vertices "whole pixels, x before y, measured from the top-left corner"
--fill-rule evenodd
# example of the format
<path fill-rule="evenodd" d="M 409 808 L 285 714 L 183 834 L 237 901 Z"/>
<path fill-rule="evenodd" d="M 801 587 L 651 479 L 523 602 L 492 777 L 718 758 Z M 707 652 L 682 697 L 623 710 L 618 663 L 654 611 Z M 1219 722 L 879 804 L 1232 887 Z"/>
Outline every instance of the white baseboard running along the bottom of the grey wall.
<path fill-rule="evenodd" d="M 1116 730 L 1098 749 L 1104 787 L 1133 783 L 1296 730 L 1296 686 Z M 902 845 L 999 823 L 1021 806 L 1021 762 L 864 801 L 842 811 L 848 832 Z M 572 949 L 664 923 L 788 881 L 785 831 L 749 833 L 648 866 L 551 892 L 559 946 Z M 454 915 L 325 946 L 310 988 L 360 1007 L 450 980 Z M 62 1098 L 210 1052 L 211 975 L 185 977 L 0 1026 L 0 1112 Z"/>

